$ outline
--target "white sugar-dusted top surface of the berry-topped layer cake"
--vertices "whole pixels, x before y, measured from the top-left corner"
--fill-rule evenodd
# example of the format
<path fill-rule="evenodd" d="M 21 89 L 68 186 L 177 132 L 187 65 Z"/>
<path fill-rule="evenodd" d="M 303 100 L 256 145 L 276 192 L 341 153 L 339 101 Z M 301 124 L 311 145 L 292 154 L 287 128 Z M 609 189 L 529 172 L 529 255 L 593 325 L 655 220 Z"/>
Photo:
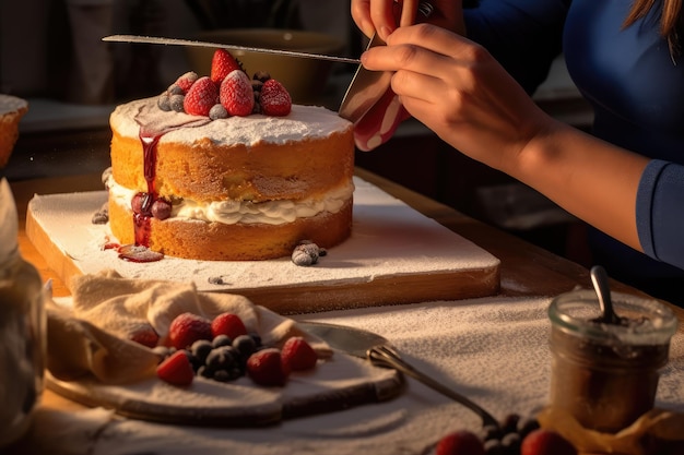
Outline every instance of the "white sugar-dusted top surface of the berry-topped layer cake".
<path fill-rule="evenodd" d="M 140 116 L 143 111 L 144 118 Z M 205 119 L 207 121 L 201 121 Z M 198 121 L 200 120 L 200 121 Z M 166 132 L 160 142 L 192 143 L 210 137 L 221 144 L 252 145 L 258 142 L 286 143 L 304 137 L 326 137 L 333 132 L 345 131 L 352 123 L 329 109 L 319 106 L 292 106 L 285 117 L 251 115 L 210 120 L 182 112 L 163 111 L 156 107 L 156 98 L 130 101 L 114 110 L 111 129 L 123 136 L 138 137 L 140 125 L 158 122 L 166 125 L 188 125 Z"/>

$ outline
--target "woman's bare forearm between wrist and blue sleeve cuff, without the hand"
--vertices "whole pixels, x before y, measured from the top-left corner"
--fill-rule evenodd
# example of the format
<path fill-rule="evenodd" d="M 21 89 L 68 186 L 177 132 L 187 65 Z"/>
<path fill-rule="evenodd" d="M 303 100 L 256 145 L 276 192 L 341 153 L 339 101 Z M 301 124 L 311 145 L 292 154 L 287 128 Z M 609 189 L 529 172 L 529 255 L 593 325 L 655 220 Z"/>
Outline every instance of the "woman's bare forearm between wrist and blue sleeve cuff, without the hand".
<path fill-rule="evenodd" d="M 609 236 L 642 251 L 637 189 L 648 158 L 557 121 L 538 134 L 503 171 Z"/>

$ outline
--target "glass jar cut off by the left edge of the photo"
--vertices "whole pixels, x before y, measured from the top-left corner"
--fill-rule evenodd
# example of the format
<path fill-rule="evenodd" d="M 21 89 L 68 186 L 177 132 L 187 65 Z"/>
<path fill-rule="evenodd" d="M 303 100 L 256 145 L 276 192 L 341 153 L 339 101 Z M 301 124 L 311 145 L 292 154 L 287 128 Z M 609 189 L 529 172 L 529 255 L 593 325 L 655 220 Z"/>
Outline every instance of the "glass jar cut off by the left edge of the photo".
<path fill-rule="evenodd" d="M 44 288 L 19 253 L 14 197 L 0 181 L 0 447 L 30 428 L 43 392 L 46 359 Z"/>

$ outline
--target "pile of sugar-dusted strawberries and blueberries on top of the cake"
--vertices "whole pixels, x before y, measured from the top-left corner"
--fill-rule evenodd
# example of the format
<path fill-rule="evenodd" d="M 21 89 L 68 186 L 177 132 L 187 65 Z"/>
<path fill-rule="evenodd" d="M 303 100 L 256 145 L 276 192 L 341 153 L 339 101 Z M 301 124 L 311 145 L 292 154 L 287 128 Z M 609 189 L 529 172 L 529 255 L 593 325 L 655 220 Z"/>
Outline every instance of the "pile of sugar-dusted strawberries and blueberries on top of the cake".
<path fill-rule="evenodd" d="M 241 63 L 225 49 L 216 49 L 209 76 L 190 71 L 180 75 L 164 92 L 157 106 L 212 120 L 251 113 L 283 117 L 292 109 L 287 89 L 269 73 L 256 72 L 251 79 Z"/>

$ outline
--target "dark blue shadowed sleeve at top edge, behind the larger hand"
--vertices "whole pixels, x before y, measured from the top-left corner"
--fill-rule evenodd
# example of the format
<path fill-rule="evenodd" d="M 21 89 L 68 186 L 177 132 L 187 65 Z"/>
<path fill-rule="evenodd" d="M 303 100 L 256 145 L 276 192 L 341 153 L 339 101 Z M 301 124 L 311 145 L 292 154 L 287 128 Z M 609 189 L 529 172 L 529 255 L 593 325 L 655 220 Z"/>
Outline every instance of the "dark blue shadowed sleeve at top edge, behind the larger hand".
<path fill-rule="evenodd" d="M 529 93 L 561 52 L 570 0 L 480 0 L 463 10 L 469 39 L 484 46 Z"/>

